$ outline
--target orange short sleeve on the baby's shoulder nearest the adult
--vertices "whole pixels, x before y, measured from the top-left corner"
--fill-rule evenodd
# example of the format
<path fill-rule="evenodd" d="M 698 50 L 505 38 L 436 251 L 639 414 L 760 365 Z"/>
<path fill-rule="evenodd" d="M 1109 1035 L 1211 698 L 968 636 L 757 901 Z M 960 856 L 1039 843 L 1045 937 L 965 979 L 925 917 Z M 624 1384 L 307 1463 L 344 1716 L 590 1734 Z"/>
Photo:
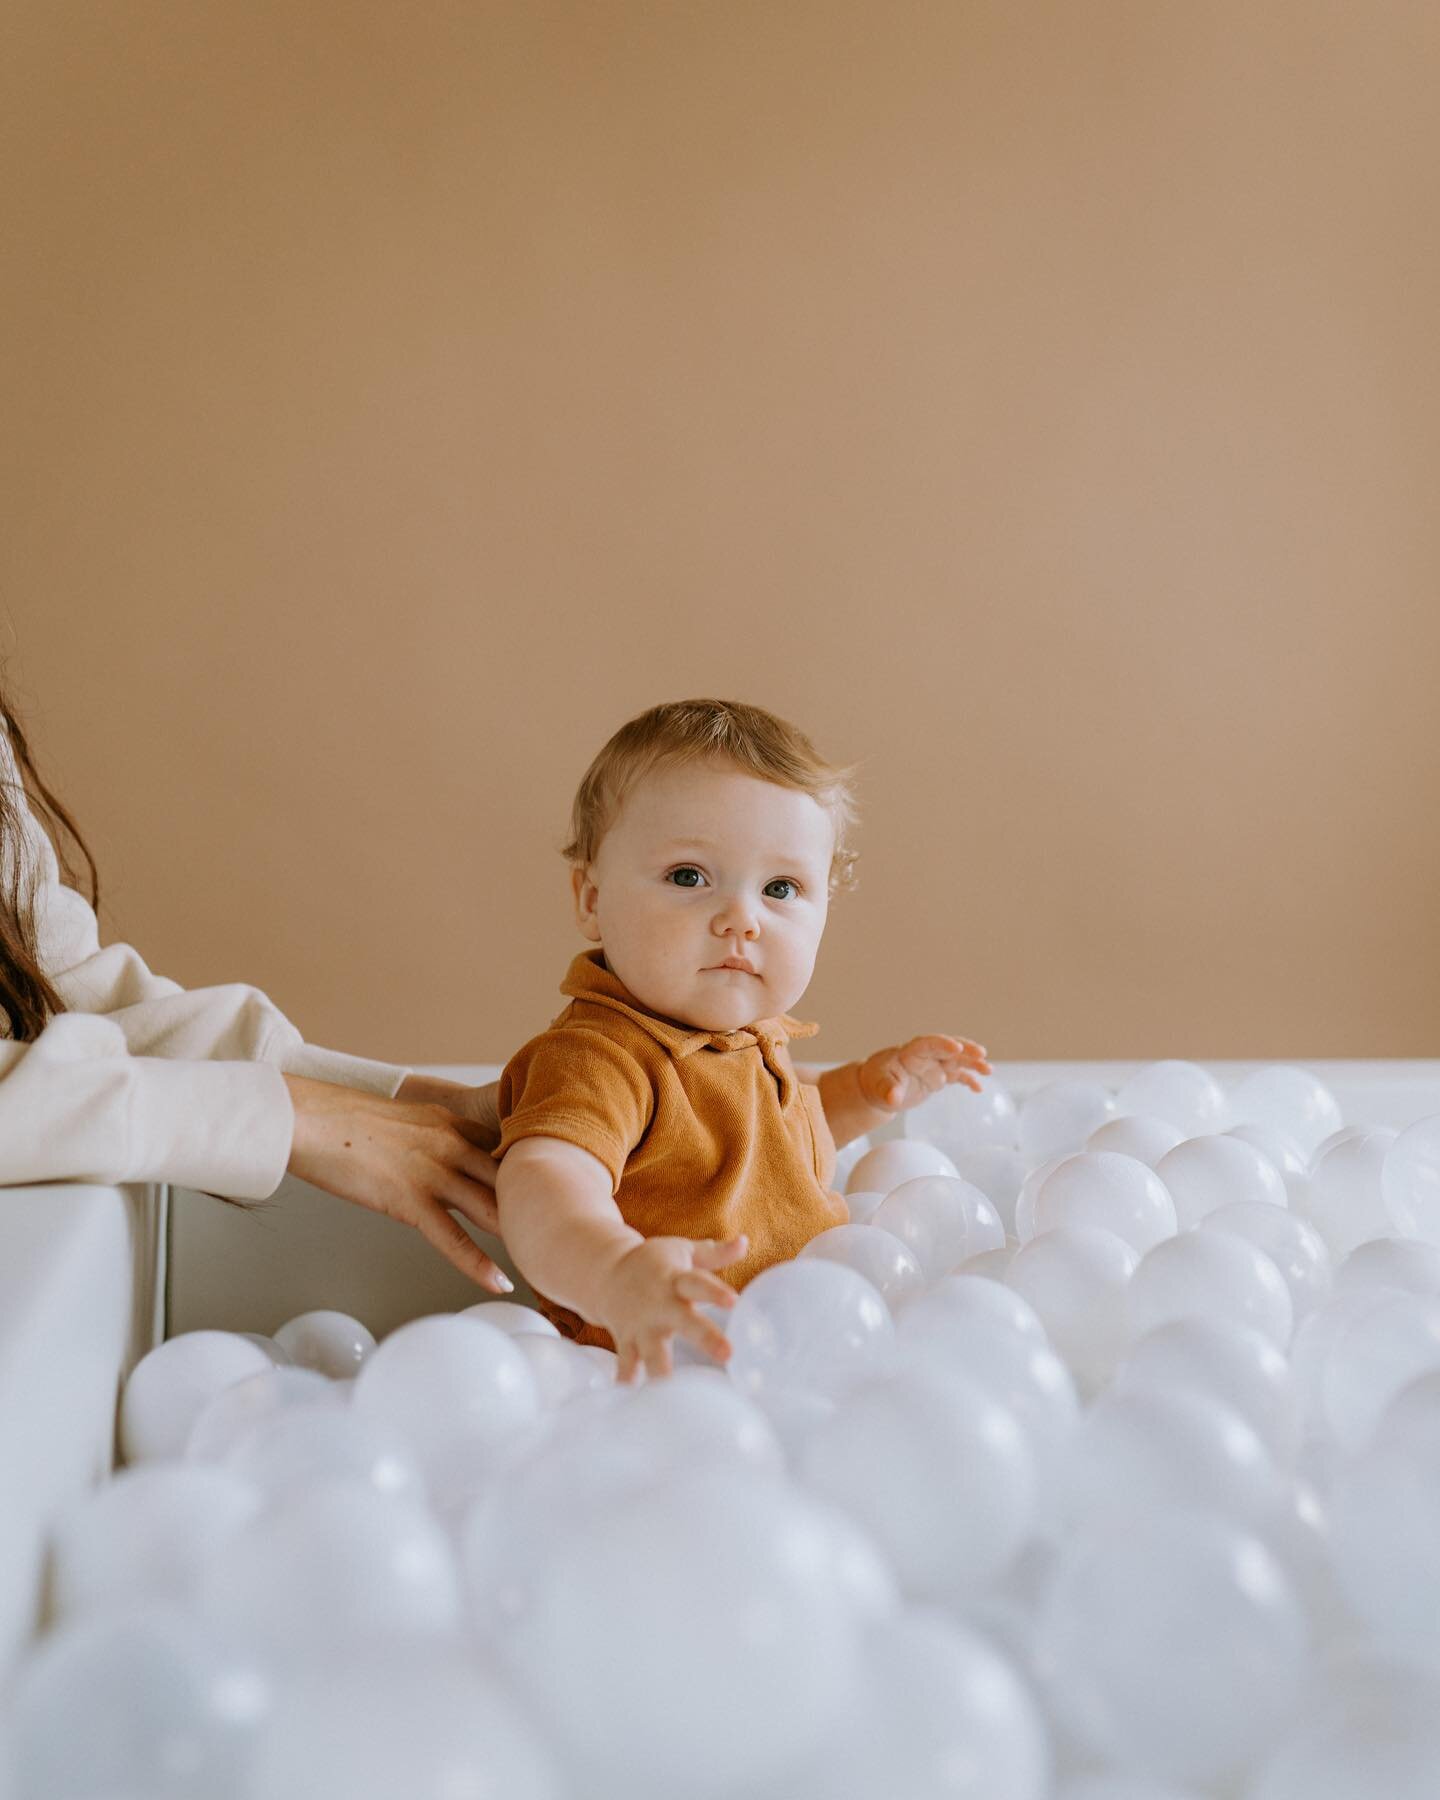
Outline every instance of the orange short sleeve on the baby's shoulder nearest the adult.
<path fill-rule="evenodd" d="M 497 1161 L 520 1138 L 562 1138 L 607 1166 L 614 1192 L 655 1116 L 655 1087 L 614 1039 L 583 1026 L 556 1026 L 511 1057 L 497 1105 Z"/>

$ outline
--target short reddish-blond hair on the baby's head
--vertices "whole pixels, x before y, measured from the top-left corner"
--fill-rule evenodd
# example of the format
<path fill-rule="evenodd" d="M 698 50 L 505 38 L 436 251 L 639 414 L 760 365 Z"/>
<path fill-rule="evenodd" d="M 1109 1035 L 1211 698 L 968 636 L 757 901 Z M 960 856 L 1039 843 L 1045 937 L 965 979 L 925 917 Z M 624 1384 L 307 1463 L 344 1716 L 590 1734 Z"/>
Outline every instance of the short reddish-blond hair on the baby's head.
<path fill-rule="evenodd" d="M 853 769 L 826 763 L 799 727 L 743 700 L 670 700 L 621 725 L 574 796 L 567 862 L 585 868 L 616 823 L 625 796 L 653 769 L 713 758 L 819 801 L 835 824 L 830 893 L 855 886 L 850 832 L 859 817 Z"/>

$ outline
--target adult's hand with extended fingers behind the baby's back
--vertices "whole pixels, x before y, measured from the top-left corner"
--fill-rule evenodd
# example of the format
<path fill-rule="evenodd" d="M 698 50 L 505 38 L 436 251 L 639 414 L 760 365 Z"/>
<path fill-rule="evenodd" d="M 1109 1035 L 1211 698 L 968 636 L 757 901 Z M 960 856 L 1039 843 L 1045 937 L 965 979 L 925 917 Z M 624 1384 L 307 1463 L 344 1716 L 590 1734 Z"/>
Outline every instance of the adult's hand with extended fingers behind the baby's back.
<path fill-rule="evenodd" d="M 292 1175 L 414 1226 L 446 1262 L 490 1292 L 513 1291 L 509 1276 L 452 1217 L 459 1213 L 482 1231 L 500 1229 L 495 1163 L 484 1148 L 493 1132 L 484 1123 L 434 1100 L 407 1098 L 405 1087 L 385 1100 L 301 1075 L 286 1075 L 284 1084 L 295 1105 Z"/>

